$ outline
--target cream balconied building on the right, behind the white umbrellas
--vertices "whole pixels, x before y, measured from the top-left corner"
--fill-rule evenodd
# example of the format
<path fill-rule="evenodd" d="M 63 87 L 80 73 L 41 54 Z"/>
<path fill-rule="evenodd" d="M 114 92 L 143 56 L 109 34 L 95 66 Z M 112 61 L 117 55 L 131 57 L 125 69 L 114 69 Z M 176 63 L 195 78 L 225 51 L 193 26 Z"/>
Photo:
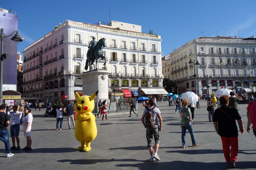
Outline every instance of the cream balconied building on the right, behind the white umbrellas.
<path fill-rule="evenodd" d="M 195 91 L 195 83 L 198 94 L 211 94 L 220 88 L 251 92 L 256 84 L 255 50 L 255 37 L 199 37 L 176 48 L 169 60 L 162 61 L 163 76 L 168 78 L 171 71 L 170 79 L 179 93 Z M 190 59 L 198 60 L 200 65 L 189 64 Z"/>

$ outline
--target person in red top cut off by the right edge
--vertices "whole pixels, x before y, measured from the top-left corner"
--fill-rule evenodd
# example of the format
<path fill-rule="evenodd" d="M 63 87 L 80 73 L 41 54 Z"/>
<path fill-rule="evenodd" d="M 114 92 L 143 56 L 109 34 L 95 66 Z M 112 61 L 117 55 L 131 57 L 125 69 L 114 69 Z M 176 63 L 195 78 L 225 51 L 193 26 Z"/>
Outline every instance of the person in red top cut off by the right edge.
<path fill-rule="evenodd" d="M 253 133 L 256 137 L 256 93 L 254 93 L 253 95 L 254 97 L 254 100 L 250 101 L 246 110 L 247 110 L 247 119 L 248 119 L 248 122 L 247 122 L 247 128 L 246 128 L 246 131 L 248 133 L 250 133 L 250 125 L 253 124 L 252 126 L 252 129 L 253 129 Z"/>

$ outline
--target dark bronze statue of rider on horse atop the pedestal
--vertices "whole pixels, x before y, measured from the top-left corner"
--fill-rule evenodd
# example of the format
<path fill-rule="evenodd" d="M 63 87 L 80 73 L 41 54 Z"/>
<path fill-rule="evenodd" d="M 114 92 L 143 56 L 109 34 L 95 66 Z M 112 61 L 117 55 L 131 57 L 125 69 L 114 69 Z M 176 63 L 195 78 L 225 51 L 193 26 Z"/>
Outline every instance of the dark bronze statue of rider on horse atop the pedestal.
<path fill-rule="evenodd" d="M 85 70 L 88 70 L 88 66 L 90 67 L 90 71 L 92 70 L 92 65 L 94 63 L 94 61 L 96 60 L 96 63 L 95 63 L 95 66 L 96 66 L 96 69 L 97 68 L 97 63 L 98 63 L 98 59 L 101 58 L 102 60 L 105 58 L 105 63 L 104 65 L 106 65 L 106 57 L 103 56 L 104 53 L 103 53 L 103 48 L 106 46 L 106 43 L 105 43 L 105 38 L 102 38 L 99 40 L 99 42 L 93 47 L 92 51 L 90 54 L 86 54 L 86 63 L 85 63 Z"/>

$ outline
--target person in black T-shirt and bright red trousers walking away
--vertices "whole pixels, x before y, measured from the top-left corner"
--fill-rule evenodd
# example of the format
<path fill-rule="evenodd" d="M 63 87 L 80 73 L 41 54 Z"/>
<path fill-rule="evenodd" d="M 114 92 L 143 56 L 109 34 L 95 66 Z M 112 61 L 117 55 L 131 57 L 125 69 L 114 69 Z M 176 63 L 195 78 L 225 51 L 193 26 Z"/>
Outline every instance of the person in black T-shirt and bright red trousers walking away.
<path fill-rule="evenodd" d="M 235 120 L 237 120 L 241 126 L 241 134 L 244 132 L 243 121 L 238 111 L 234 107 L 228 106 L 229 97 L 227 95 L 220 96 L 219 100 L 222 106 L 215 110 L 213 124 L 216 133 L 221 137 L 226 163 L 234 168 L 238 154 L 238 131 Z"/>

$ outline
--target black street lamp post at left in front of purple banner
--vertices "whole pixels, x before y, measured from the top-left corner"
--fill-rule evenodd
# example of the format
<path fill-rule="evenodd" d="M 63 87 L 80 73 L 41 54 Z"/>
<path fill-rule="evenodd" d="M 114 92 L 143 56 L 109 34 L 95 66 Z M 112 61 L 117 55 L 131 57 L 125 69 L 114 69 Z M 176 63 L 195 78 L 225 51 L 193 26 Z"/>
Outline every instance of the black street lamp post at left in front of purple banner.
<path fill-rule="evenodd" d="M 19 42 L 22 42 L 22 38 L 20 37 L 18 31 L 13 31 L 12 34 L 5 35 L 3 34 L 3 28 L 1 29 L 1 56 L 0 56 L 0 103 L 3 103 L 3 59 L 7 57 L 8 55 L 3 56 L 3 38 L 4 37 L 10 37 L 12 34 L 16 32 L 16 34 L 11 38 L 12 41 L 14 41 L 16 44 L 19 44 Z"/>

